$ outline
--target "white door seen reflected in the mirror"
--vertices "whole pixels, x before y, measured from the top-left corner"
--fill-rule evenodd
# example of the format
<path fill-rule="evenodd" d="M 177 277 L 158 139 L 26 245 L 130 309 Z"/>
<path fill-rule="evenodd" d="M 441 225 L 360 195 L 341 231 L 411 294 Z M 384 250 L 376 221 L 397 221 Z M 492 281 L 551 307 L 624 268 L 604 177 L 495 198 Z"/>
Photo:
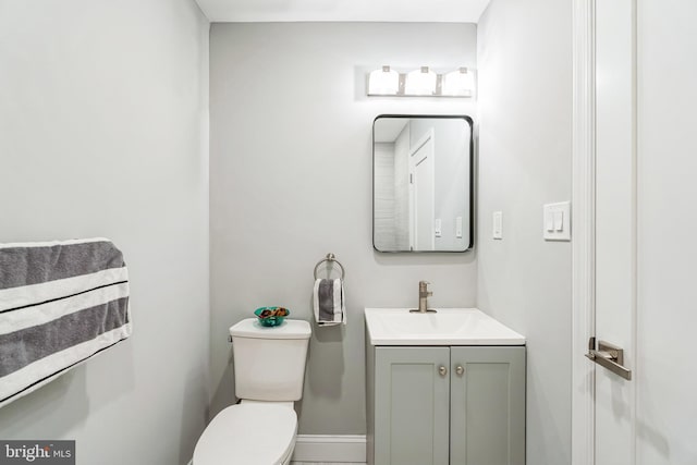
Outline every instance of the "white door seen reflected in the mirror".
<path fill-rule="evenodd" d="M 413 192 L 413 250 L 433 250 L 435 222 L 433 134 L 429 132 L 413 148 L 409 157 Z"/>

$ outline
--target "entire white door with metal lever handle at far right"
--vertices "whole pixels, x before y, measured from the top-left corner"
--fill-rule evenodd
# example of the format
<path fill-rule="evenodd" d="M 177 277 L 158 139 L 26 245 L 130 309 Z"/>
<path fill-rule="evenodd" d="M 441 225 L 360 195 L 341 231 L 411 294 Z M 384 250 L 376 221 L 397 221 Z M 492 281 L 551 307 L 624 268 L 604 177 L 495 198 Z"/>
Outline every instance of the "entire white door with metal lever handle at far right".
<path fill-rule="evenodd" d="M 596 1 L 595 464 L 697 464 L 697 2 Z"/>

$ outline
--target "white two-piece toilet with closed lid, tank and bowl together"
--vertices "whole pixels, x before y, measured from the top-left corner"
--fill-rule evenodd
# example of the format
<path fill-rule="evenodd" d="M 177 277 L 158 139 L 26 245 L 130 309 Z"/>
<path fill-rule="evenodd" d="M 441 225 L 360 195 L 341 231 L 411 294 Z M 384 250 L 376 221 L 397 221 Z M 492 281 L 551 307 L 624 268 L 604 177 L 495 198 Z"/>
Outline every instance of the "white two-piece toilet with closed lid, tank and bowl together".
<path fill-rule="evenodd" d="M 230 328 L 235 394 L 198 439 L 192 465 L 286 465 L 297 432 L 293 403 L 303 396 L 310 327 L 247 318 Z"/>

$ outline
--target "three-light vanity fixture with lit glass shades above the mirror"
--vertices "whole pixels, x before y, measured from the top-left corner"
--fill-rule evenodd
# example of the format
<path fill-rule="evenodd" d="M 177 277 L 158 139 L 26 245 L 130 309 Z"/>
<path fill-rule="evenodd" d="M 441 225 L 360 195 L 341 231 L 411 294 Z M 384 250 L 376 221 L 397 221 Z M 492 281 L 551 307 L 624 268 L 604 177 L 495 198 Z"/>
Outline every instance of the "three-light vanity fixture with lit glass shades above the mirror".
<path fill-rule="evenodd" d="M 474 95 L 474 71 L 457 68 L 438 74 L 428 66 L 400 73 L 389 65 L 368 73 L 369 97 L 472 97 Z"/>

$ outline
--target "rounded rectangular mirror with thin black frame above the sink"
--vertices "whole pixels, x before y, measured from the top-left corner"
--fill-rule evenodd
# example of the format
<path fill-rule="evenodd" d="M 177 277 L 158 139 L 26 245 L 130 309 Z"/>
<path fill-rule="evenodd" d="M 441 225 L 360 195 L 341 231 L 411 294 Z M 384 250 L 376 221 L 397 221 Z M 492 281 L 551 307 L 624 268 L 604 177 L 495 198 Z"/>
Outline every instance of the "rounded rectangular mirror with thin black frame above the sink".
<path fill-rule="evenodd" d="M 372 246 L 465 252 L 473 245 L 469 117 L 381 114 L 372 123 Z"/>

